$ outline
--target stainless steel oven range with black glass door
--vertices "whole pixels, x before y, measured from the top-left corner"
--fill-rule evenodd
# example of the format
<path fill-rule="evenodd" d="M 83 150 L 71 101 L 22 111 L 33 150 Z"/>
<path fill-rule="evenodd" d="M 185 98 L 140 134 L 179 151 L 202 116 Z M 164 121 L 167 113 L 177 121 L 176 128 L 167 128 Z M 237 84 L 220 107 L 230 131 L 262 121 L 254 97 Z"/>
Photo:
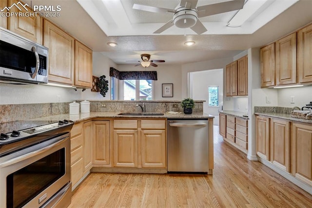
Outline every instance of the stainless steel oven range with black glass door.
<path fill-rule="evenodd" d="M 72 125 L 53 123 L 1 134 L 0 208 L 66 208 L 71 203 Z"/>

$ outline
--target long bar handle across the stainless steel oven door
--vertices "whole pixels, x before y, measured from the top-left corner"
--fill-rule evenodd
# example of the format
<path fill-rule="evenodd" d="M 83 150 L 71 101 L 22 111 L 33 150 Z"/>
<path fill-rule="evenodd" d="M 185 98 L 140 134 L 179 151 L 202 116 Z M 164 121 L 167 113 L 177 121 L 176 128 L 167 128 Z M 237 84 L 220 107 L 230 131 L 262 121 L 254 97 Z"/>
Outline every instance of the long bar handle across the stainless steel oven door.
<path fill-rule="evenodd" d="M 67 137 L 67 136 L 66 136 L 66 137 Z M 53 143 L 53 144 L 51 144 L 51 145 L 49 145 L 49 146 L 45 146 L 45 147 L 43 147 L 43 148 L 41 148 L 41 149 L 38 149 L 38 150 L 36 150 L 36 151 L 29 152 L 29 153 L 27 153 L 27 154 L 21 155 L 21 156 L 19 156 L 19 157 L 14 158 L 14 159 L 8 160 L 8 161 L 6 161 L 6 162 L 0 164 L 0 168 L 6 167 L 6 166 L 11 166 L 11 165 L 16 164 L 16 163 L 19 163 L 19 162 L 21 162 L 21 161 L 23 161 L 23 160 L 26 160 L 26 159 L 32 158 L 32 157 L 34 157 L 34 156 L 37 156 L 37 155 L 41 154 L 42 152 L 48 151 L 48 150 L 52 149 L 53 147 L 62 144 L 62 143 L 64 142 L 64 140 L 65 140 L 66 137 L 62 138 L 62 139 L 59 140 L 58 142 Z"/>

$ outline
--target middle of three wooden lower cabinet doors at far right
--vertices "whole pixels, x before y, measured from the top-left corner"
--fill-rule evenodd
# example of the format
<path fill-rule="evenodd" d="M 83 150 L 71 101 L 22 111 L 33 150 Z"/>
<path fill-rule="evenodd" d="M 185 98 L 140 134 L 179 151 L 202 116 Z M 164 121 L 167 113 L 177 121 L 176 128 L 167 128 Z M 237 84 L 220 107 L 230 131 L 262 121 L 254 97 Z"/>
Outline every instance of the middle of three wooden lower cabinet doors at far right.
<path fill-rule="evenodd" d="M 290 122 L 271 119 L 270 122 L 271 162 L 290 171 Z"/>

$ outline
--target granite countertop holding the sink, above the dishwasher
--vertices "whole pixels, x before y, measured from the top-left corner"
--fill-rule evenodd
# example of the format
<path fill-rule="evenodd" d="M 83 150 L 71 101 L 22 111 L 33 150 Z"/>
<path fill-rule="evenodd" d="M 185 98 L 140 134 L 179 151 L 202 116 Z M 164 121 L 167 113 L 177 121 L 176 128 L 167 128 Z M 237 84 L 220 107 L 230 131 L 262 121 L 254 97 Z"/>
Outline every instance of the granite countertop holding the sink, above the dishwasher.
<path fill-rule="evenodd" d="M 90 112 L 90 113 L 79 113 L 79 114 L 60 114 L 60 115 L 55 115 L 55 116 L 46 116 L 46 117 L 41 117 L 41 118 L 35 118 L 35 119 L 30 119 L 31 121 L 44 121 L 44 120 L 71 120 L 73 122 L 81 122 L 81 121 L 86 121 L 89 119 L 94 119 L 94 118 L 150 118 L 150 119 L 208 119 L 208 118 L 215 118 L 212 115 L 208 114 L 203 114 L 203 113 L 192 113 L 192 114 L 169 114 L 169 113 L 164 113 L 163 116 L 124 116 L 124 115 L 118 115 L 120 112 Z"/>

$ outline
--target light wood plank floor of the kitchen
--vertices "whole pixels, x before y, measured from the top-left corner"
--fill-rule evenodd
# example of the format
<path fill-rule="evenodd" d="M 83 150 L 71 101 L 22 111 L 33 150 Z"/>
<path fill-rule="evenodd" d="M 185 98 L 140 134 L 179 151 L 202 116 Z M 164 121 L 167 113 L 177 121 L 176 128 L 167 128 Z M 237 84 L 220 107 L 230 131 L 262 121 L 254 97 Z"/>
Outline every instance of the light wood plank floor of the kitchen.
<path fill-rule="evenodd" d="M 215 126 L 214 175 L 91 173 L 70 208 L 312 208 L 312 195 L 228 146 Z"/>

